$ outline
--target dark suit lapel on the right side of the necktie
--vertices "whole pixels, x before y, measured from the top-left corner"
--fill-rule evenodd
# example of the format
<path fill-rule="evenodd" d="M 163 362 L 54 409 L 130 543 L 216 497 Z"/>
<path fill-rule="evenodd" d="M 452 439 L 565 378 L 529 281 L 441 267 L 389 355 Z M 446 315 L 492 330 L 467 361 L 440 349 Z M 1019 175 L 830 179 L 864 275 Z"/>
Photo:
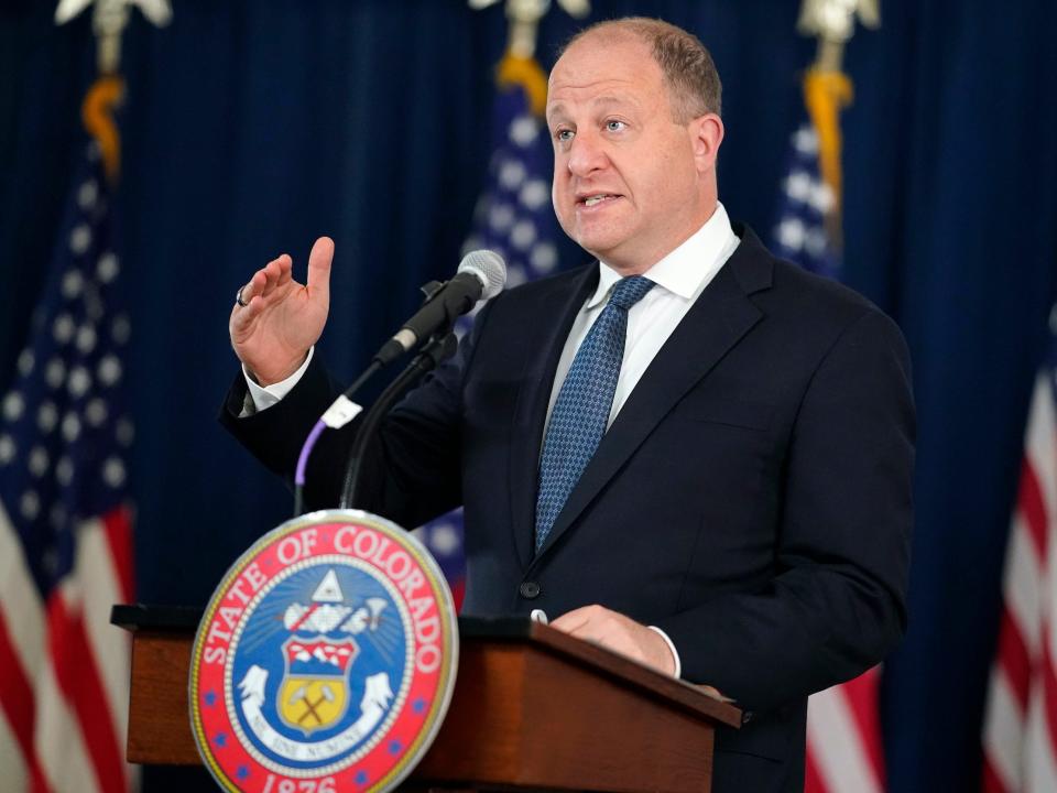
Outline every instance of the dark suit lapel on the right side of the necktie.
<path fill-rule="evenodd" d="M 762 317 L 748 294 L 770 286 L 771 263 L 760 258 L 765 252 L 751 231 L 747 229 L 742 237 L 617 414 L 536 558 L 548 552 L 661 420 Z M 535 448 L 538 452 L 538 438 Z"/>

